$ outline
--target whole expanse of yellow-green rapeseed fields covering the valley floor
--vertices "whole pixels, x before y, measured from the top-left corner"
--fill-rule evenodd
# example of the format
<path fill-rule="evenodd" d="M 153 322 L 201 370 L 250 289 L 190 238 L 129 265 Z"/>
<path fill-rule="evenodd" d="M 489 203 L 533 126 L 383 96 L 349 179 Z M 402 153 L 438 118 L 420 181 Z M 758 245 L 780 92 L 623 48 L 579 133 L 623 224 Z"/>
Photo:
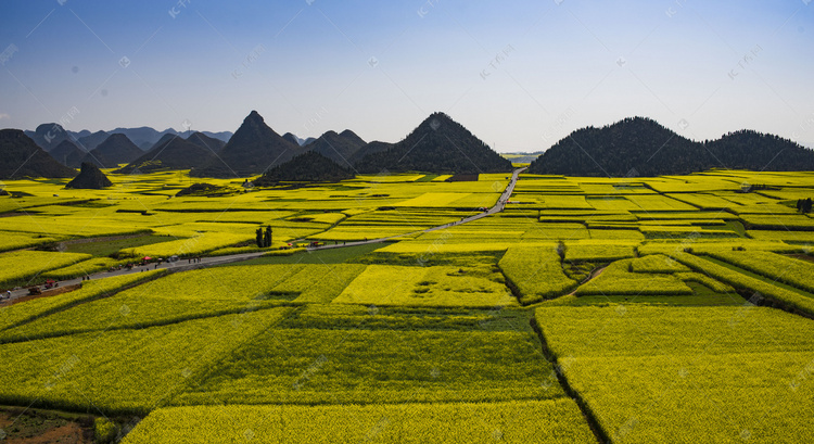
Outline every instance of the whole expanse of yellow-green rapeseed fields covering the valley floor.
<path fill-rule="evenodd" d="M 4 406 L 104 417 L 125 444 L 812 433 L 807 174 L 521 175 L 484 215 L 509 176 L 202 198 L 175 195 L 186 173 L 106 173 L 3 182 Z"/>

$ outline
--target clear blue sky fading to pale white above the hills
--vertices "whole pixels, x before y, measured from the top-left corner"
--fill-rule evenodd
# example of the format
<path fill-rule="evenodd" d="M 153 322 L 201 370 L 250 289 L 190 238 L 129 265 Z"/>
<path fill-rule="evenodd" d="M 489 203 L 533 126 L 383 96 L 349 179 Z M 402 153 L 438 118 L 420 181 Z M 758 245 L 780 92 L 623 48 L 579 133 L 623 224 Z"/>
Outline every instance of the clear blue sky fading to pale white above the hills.
<path fill-rule="evenodd" d="M 814 147 L 803 0 L 0 0 L 0 127 L 233 131 L 257 110 L 397 141 L 443 111 L 536 151 L 640 115 Z"/>

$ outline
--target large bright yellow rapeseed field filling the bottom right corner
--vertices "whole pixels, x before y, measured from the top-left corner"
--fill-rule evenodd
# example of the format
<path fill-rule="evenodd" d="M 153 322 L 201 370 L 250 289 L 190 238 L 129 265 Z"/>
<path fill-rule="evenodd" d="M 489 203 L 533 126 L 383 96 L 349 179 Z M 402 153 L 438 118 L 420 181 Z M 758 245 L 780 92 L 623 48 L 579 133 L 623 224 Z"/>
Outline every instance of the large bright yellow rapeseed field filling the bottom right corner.
<path fill-rule="evenodd" d="M 754 306 L 624 305 L 538 308 L 536 319 L 611 442 L 796 443 L 812 433 L 809 319 Z"/>

